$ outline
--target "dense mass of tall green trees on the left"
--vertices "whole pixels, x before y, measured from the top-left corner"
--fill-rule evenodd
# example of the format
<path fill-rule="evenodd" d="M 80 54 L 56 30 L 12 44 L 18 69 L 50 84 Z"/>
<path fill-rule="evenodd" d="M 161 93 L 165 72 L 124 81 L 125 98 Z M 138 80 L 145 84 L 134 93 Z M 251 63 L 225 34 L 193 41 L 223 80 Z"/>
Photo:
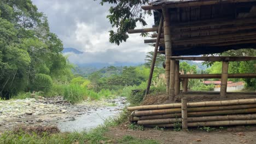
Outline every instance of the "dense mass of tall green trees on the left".
<path fill-rule="evenodd" d="M 72 79 L 61 40 L 31 1 L 0 2 L 0 33 L 3 99 L 24 91 L 48 93 L 54 82 Z"/>

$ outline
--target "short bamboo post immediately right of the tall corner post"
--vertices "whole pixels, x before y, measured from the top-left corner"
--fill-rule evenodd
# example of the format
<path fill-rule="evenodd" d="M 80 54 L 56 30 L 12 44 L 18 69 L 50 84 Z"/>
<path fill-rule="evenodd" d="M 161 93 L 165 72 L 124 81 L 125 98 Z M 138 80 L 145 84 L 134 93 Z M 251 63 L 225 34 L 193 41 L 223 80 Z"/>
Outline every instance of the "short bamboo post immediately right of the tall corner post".
<path fill-rule="evenodd" d="M 170 92 L 169 92 L 169 99 L 171 101 L 174 100 L 174 96 L 175 96 L 175 60 L 171 60 L 171 64 L 170 64 Z"/>

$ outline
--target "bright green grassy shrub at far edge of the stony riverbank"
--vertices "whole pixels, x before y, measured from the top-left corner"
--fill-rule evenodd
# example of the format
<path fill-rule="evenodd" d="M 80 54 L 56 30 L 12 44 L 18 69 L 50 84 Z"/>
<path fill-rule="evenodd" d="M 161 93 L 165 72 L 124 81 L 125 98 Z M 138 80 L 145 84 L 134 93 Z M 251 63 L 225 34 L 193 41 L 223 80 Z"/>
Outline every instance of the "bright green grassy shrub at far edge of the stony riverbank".
<path fill-rule="evenodd" d="M 84 100 L 85 95 L 85 88 L 77 84 L 71 84 L 65 88 L 64 99 L 74 104 Z"/>

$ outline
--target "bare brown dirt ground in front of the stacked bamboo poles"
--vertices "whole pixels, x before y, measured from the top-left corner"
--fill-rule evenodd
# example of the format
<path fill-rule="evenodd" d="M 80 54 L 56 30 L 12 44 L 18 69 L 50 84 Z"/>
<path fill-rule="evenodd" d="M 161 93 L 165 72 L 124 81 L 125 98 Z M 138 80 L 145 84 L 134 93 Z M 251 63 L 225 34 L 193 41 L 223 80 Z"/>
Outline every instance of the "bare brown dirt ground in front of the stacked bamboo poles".
<path fill-rule="evenodd" d="M 256 127 L 255 127 L 256 128 Z M 212 132 L 201 131 L 197 129 L 184 131 L 173 131 L 169 130 L 156 130 L 156 129 L 145 129 L 141 130 L 130 130 L 124 128 L 124 126 L 112 127 L 106 134 L 107 137 L 112 138 L 114 141 L 121 139 L 125 135 L 131 135 L 139 139 L 152 139 L 160 143 L 209 143 L 209 144 L 238 144 L 238 143 L 256 143 L 256 131 L 255 128 L 251 130 L 243 130 L 243 128 L 235 128 L 228 130 L 217 130 Z M 239 131 L 239 130 L 242 130 Z"/>

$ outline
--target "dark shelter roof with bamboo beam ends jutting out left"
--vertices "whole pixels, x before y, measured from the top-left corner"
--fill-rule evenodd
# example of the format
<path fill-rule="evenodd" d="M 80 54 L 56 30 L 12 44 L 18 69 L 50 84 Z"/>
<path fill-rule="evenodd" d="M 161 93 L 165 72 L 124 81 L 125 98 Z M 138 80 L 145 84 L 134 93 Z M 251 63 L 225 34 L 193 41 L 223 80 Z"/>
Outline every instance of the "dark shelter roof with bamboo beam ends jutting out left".
<path fill-rule="evenodd" d="M 142 6 L 154 10 L 155 26 L 129 32 L 156 32 L 163 4 L 170 17 L 173 56 L 256 49 L 256 0 L 155 1 Z M 160 46 L 165 46 L 163 34 Z"/>

